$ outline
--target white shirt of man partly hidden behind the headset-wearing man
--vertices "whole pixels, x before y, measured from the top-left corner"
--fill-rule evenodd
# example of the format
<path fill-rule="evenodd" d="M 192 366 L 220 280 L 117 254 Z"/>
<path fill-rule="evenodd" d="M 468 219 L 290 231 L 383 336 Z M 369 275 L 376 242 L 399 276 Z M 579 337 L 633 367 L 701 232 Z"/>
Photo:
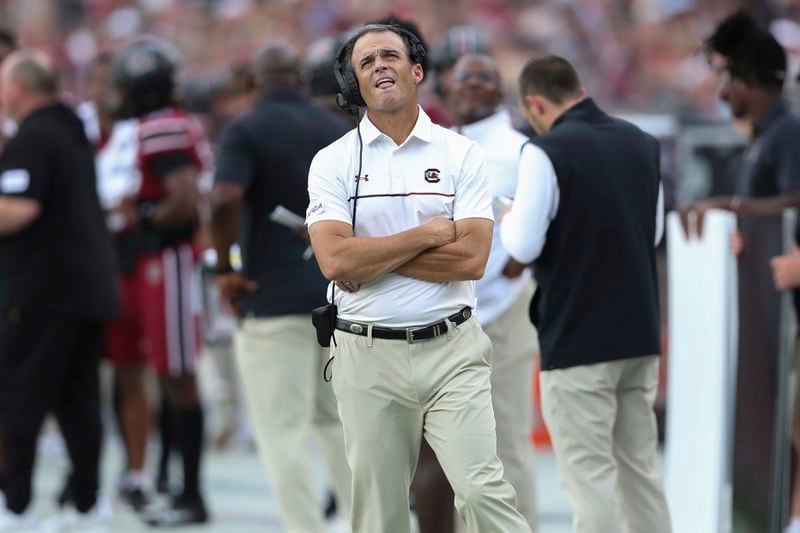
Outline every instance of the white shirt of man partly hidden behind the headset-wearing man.
<path fill-rule="evenodd" d="M 514 129 L 508 111 L 501 109 L 482 120 L 462 126 L 460 133 L 477 142 L 486 154 L 492 197 L 513 198 L 517 190 L 520 150 L 528 138 Z M 500 204 L 493 207 L 497 215 Z M 495 224 L 489 261 L 483 278 L 475 285 L 478 295 L 475 314 L 483 326 L 494 322 L 511 307 L 531 279 L 530 269 L 525 269 L 513 279 L 503 275 L 503 268 L 510 257 L 500 239 L 500 224 Z"/>

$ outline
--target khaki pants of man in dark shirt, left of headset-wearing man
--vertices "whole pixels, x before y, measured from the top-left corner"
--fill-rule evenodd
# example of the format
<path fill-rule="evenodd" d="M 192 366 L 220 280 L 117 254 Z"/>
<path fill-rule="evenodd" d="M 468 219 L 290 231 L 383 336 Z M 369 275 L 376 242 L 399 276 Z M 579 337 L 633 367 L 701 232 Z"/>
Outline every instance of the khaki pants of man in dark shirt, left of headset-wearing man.
<path fill-rule="evenodd" d="M 323 502 L 309 449 L 312 429 L 343 516 L 350 507 L 350 469 L 330 384 L 328 351 L 305 315 L 245 319 L 235 336 L 236 361 L 256 444 L 289 533 L 325 531 Z"/>

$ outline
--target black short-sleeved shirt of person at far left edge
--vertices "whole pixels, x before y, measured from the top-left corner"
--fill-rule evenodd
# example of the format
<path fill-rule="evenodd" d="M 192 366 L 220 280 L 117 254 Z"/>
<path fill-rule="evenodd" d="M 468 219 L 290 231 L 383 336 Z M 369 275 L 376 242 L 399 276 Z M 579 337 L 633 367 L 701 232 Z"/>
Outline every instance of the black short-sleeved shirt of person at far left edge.
<path fill-rule="evenodd" d="M 41 205 L 31 225 L 0 237 L 0 312 L 115 318 L 119 296 L 94 150 L 70 108 L 50 105 L 22 121 L 0 155 L 0 194 Z"/>

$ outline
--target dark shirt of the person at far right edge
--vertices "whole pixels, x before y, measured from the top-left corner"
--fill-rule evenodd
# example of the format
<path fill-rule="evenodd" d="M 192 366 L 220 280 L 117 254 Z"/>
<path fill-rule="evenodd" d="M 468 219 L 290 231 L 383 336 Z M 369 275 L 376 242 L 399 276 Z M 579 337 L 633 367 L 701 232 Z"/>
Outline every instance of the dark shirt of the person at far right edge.
<path fill-rule="evenodd" d="M 800 115 L 780 101 L 753 129 L 742 156 L 738 192 L 764 198 L 800 190 Z"/>

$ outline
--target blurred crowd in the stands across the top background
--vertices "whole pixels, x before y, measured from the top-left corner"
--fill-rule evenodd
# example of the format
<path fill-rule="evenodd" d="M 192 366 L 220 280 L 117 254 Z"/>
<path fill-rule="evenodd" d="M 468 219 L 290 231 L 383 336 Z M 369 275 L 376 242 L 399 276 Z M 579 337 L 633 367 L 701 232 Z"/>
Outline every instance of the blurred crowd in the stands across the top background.
<path fill-rule="evenodd" d="M 246 88 L 244 65 L 266 40 L 303 50 L 392 12 L 415 20 L 429 44 L 453 26 L 474 27 L 506 80 L 531 55 L 555 53 L 569 57 L 588 91 L 613 111 L 694 121 L 724 116 L 700 43 L 733 7 L 727 0 L 4 0 L 0 20 L 22 46 L 58 58 L 76 102 L 87 96 L 84 74 L 92 60 L 141 33 L 165 38 L 184 54 L 190 106 L 223 106 L 230 99 L 212 96 Z M 796 76 L 800 4 L 771 0 L 755 7 L 787 49 Z M 514 91 L 508 94 L 513 99 Z"/>

